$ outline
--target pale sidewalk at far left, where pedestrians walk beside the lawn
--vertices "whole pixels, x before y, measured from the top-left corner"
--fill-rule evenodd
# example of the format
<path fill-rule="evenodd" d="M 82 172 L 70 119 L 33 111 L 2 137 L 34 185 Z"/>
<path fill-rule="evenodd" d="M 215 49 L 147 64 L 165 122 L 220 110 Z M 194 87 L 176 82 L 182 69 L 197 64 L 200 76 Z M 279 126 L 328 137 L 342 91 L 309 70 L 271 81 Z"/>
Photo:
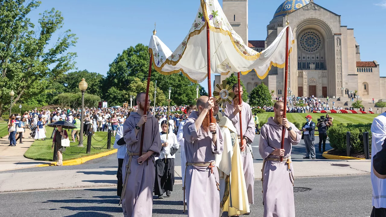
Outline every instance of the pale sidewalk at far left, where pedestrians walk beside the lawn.
<path fill-rule="evenodd" d="M 33 138 L 28 139 L 30 132 L 29 129 L 25 129 L 25 132 L 23 133 L 24 139 L 22 139 L 23 144 L 19 144 L 19 141 L 16 141 L 16 146 L 14 147 L 8 146 L 8 136 L 0 139 L 0 171 L 15 170 L 51 163 L 49 161 L 36 161 L 24 157 L 24 153 L 35 141 Z"/>

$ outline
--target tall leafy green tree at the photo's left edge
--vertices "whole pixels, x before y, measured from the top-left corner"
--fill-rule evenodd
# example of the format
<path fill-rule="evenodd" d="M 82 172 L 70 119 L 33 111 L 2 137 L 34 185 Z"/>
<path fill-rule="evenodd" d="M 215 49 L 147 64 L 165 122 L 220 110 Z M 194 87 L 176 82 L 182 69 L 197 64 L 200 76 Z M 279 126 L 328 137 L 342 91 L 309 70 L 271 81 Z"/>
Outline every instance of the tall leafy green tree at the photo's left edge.
<path fill-rule="evenodd" d="M 52 8 L 40 14 L 37 28 L 27 18 L 40 3 L 0 1 L 0 115 L 9 108 L 11 90 L 14 103 L 27 101 L 74 68 L 76 53 L 67 49 L 76 44 L 75 34 L 64 31 L 51 43 L 53 34 L 63 27 L 61 12 Z"/>

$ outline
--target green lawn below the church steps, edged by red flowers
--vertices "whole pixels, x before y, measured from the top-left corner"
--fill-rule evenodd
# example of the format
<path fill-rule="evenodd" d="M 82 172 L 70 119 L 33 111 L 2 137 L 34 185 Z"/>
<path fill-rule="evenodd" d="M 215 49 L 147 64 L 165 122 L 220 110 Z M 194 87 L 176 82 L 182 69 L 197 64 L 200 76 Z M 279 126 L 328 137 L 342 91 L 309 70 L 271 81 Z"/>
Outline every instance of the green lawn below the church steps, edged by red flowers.
<path fill-rule="evenodd" d="M 318 118 L 320 116 L 325 116 L 326 114 L 320 114 L 320 113 L 287 113 L 287 119 L 290 122 L 298 122 L 300 124 L 303 124 L 306 122 L 305 117 L 307 115 L 312 116 L 312 121 L 317 123 Z M 377 117 L 377 114 L 328 114 L 330 117 L 334 118 L 334 124 L 343 123 L 346 125 L 347 123 L 352 124 L 366 124 L 371 123 L 374 117 Z M 273 117 L 273 112 L 265 112 L 265 113 L 259 113 L 257 114 L 257 117 L 259 117 L 260 122 L 267 122 L 269 117 Z"/>

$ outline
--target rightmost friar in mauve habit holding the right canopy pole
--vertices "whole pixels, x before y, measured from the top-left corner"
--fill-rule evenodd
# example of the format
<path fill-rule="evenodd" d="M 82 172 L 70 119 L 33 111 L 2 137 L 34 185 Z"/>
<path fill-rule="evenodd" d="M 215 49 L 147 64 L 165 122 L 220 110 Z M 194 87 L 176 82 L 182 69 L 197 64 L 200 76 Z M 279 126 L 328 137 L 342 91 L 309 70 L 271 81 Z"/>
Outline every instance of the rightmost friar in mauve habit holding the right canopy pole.
<path fill-rule="evenodd" d="M 275 117 L 261 127 L 259 152 L 264 159 L 262 168 L 264 217 L 295 217 L 293 198 L 292 145 L 297 145 L 301 132 L 294 124 L 283 118 L 284 102 L 277 101 Z M 284 149 L 281 149 L 283 126 Z M 283 161 L 280 161 L 283 157 Z"/>

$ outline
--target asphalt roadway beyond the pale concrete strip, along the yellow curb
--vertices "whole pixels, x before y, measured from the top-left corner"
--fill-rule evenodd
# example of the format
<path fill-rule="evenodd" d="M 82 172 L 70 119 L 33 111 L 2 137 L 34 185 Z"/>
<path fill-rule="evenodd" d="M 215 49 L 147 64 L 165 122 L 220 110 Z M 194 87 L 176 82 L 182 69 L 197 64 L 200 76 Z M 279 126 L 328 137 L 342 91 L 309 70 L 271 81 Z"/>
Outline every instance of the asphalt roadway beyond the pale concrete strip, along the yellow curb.
<path fill-rule="evenodd" d="M 254 142 L 252 143 L 252 151 L 254 155 L 254 163 L 259 163 L 262 161 L 262 158 L 259 154 L 259 139 L 260 135 L 256 135 Z M 315 136 L 315 146 L 318 146 L 319 137 Z M 326 141 L 326 150 L 331 149 L 330 143 Z M 300 144 L 292 147 L 292 161 L 312 161 L 312 159 L 303 159 L 306 153 L 306 147 L 303 140 L 300 141 Z M 322 153 L 318 152 L 318 147 L 316 147 L 317 159 L 324 159 Z M 95 168 L 117 168 L 118 166 L 117 154 L 112 154 L 104 158 L 93 159 L 87 161 L 86 163 L 75 165 L 75 166 L 46 166 L 46 167 L 33 167 L 25 168 L 12 171 L 0 171 L 1 173 L 20 173 L 20 172 L 33 172 L 33 171 L 52 171 L 52 170 L 87 170 Z M 176 153 L 176 159 L 174 160 L 175 166 L 181 166 L 181 151 L 178 150 Z"/>

